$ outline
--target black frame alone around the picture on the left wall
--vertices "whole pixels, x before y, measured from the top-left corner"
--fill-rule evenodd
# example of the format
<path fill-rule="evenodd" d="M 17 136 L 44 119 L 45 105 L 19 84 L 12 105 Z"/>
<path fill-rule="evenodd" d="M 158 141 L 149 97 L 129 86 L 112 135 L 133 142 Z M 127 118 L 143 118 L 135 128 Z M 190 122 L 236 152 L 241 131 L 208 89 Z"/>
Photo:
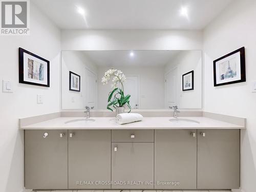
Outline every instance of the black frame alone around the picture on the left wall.
<path fill-rule="evenodd" d="M 36 83 L 36 82 L 30 82 L 24 80 L 24 53 L 27 53 L 33 57 L 36 57 L 42 61 L 45 61 L 47 63 L 47 84 L 41 84 L 41 83 Z M 42 58 L 34 53 L 31 53 L 23 48 L 18 48 L 18 58 L 19 58 L 19 83 L 24 83 L 24 84 L 31 84 L 33 86 L 42 86 L 42 87 L 50 87 L 50 61 Z"/>

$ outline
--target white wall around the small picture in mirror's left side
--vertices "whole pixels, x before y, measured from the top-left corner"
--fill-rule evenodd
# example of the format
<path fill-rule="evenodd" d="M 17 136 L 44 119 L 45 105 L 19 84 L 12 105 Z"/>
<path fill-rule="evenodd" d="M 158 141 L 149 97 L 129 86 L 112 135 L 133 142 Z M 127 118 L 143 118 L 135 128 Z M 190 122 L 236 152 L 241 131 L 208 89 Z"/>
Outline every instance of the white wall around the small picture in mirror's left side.
<path fill-rule="evenodd" d="M 97 74 L 97 66 L 82 51 L 62 51 L 61 57 L 62 109 L 84 109 L 86 98 L 86 69 Z M 69 72 L 80 75 L 80 92 L 69 90 Z"/>

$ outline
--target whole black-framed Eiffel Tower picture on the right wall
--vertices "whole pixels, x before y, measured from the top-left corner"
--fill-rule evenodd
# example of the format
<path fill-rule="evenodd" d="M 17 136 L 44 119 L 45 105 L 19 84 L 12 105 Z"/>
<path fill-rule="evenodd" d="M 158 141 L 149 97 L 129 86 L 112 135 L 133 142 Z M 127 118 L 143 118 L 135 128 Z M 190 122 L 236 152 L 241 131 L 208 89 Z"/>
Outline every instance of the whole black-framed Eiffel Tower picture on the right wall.
<path fill-rule="evenodd" d="M 246 81 L 244 47 L 214 61 L 214 87 L 244 81 Z"/>

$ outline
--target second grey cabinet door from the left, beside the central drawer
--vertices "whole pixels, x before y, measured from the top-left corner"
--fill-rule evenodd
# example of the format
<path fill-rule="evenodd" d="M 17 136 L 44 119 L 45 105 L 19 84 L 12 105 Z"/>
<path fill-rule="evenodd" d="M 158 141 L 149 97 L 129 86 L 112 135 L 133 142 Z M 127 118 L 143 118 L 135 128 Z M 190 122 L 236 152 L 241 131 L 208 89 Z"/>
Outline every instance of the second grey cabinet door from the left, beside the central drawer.
<path fill-rule="evenodd" d="M 69 130 L 69 188 L 111 187 L 99 181 L 111 181 L 111 131 Z"/>

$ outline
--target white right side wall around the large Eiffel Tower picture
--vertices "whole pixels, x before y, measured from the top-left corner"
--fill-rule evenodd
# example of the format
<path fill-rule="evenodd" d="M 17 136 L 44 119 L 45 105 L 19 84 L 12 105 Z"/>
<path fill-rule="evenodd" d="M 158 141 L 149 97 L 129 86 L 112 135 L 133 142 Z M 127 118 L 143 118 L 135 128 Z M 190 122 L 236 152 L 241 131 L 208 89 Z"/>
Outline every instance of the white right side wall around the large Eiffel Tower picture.
<path fill-rule="evenodd" d="M 256 191 L 256 1 L 234 1 L 204 30 L 204 109 L 207 112 L 247 118 L 242 131 L 241 187 Z M 212 61 L 245 47 L 246 82 L 214 87 Z"/>

